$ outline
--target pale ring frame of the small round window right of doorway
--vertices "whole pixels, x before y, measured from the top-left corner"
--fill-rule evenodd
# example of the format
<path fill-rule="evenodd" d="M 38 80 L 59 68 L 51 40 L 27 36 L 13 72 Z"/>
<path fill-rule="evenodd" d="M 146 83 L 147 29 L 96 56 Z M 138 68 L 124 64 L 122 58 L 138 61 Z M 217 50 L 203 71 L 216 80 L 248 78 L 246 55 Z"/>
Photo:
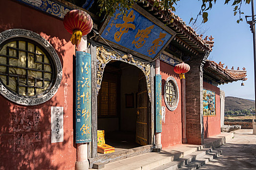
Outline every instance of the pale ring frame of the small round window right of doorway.
<path fill-rule="evenodd" d="M 174 88 L 176 90 L 176 98 L 175 98 L 175 102 L 173 104 L 173 106 L 170 106 L 167 99 L 166 99 L 166 86 L 168 84 L 168 82 L 171 81 L 174 85 Z M 179 87 L 178 84 L 176 82 L 176 80 L 173 77 L 168 77 L 165 81 L 165 86 L 164 86 L 164 100 L 165 100 L 165 104 L 167 106 L 167 108 L 171 111 L 174 111 L 177 107 L 178 107 L 178 103 L 179 103 Z"/>

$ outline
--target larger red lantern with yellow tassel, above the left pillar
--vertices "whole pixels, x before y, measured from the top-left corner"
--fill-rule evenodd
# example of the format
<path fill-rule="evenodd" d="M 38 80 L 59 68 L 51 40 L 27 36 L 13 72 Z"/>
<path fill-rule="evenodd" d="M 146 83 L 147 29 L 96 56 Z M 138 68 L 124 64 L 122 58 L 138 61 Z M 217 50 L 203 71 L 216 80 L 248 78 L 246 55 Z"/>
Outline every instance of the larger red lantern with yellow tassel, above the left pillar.
<path fill-rule="evenodd" d="M 78 46 L 83 35 L 87 35 L 91 32 L 93 22 L 91 17 L 82 10 L 75 9 L 69 11 L 64 16 L 64 27 L 72 34 L 71 42 L 73 45 Z"/>

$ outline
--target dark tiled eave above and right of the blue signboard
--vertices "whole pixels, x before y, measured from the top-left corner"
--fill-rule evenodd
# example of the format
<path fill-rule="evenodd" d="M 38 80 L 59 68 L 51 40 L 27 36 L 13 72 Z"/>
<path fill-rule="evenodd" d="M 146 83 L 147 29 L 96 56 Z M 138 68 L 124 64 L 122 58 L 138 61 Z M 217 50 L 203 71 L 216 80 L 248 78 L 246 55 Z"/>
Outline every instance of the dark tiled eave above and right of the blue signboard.
<path fill-rule="evenodd" d="M 173 40 L 193 54 L 199 55 L 199 53 L 212 51 L 214 41 L 211 39 L 210 41 L 204 40 L 190 26 L 186 25 L 180 17 L 172 13 L 171 10 L 158 10 L 153 7 L 153 0 L 138 0 L 137 4 L 175 31 L 177 34 Z"/>

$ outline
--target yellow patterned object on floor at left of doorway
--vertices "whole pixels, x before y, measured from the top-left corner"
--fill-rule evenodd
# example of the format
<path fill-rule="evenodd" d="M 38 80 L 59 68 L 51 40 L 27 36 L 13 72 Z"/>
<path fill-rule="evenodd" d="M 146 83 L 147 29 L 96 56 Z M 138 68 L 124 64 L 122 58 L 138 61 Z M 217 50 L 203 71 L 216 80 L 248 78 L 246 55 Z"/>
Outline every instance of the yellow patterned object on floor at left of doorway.
<path fill-rule="evenodd" d="M 97 131 L 98 153 L 114 153 L 115 148 L 105 143 L 104 130 Z"/>

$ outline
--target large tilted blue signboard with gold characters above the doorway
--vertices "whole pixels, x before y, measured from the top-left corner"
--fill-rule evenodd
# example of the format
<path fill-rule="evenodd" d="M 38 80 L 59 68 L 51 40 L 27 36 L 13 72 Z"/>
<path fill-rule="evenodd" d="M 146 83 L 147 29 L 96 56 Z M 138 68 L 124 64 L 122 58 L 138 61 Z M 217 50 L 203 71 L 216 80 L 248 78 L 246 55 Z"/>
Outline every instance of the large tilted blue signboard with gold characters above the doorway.
<path fill-rule="evenodd" d="M 133 8 L 124 15 L 116 11 L 101 35 L 149 58 L 156 57 L 172 36 Z"/>

